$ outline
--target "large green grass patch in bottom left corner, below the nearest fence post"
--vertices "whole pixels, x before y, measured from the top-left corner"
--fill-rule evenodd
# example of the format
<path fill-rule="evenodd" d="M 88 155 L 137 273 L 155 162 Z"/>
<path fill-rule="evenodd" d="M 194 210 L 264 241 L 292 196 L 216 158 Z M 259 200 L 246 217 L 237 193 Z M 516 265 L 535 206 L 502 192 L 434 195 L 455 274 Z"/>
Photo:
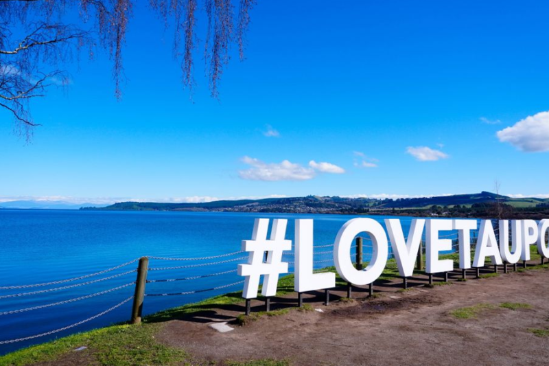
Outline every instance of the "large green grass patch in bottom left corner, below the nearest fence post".
<path fill-rule="evenodd" d="M 73 334 L 57 341 L 25 348 L 0 357 L 1 366 L 22 366 L 54 361 L 63 354 L 86 346 L 82 356 L 89 356 L 98 365 L 180 365 L 189 355 L 161 345 L 154 339 L 159 324 L 113 325 L 91 332 Z"/>

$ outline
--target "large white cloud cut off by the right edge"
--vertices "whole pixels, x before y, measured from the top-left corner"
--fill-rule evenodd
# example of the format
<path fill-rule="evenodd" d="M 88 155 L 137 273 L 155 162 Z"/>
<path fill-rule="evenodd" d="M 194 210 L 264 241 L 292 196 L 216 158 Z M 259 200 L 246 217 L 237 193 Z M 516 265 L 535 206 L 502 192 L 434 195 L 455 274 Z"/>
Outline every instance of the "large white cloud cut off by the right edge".
<path fill-rule="evenodd" d="M 528 116 L 496 135 L 500 141 L 509 142 L 521 151 L 549 151 L 549 111 Z"/>

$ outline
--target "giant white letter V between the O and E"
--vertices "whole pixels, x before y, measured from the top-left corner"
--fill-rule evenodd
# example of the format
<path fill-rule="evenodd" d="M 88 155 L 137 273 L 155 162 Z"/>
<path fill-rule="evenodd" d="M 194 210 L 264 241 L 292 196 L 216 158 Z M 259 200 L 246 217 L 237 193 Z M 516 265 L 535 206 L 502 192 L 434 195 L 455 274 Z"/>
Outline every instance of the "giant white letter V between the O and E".
<path fill-rule="evenodd" d="M 402 232 L 402 225 L 400 225 L 399 219 L 386 218 L 385 226 L 389 232 L 390 245 L 393 247 L 399 273 L 401 276 L 410 277 L 414 274 L 414 264 L 417 252 L 419 251 L 419 244 L 421 244 L 421 235 L 425 226 L 425 220 L 412 220 L 406 242 L 404 241 L 404 233 Z"/>

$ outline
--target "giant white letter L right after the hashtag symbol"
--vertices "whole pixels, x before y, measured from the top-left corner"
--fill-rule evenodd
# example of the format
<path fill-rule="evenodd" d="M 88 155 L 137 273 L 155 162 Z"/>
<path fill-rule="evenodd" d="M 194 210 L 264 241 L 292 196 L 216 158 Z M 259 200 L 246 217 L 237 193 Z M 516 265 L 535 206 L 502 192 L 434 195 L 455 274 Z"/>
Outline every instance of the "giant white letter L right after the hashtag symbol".
<path fill-rule="evenodd" d="M 313 220 L 296 220 L 295 243 L 296 293 L 336 287 L 336 273 L 313 274 Z"/>

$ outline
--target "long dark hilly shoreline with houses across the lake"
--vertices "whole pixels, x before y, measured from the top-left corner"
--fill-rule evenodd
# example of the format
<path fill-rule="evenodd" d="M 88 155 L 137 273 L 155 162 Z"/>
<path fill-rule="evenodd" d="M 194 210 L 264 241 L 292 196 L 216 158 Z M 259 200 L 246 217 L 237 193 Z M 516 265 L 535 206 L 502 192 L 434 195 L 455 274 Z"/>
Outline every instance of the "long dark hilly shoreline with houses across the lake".
<path fill-rule="evenodd" d="M 408 214 L 414 216 L 490 216 L 495 205 L 506 212 L 549 211 L 549 199 L 511 198 L 490 192 L 454 194 L 421 198 L 378 200 L 373 198 L 344 198 L 306 196 L 265 198 L 259 200 L 213 201 L 208 203 L 152 203 L 122 202 L 102 209 L 120 211 L 226 211 L 280 212 L 297 214 Z M 514 211 L 513 211 L 514 212 Z M 526 211 L 524 211 L 526 212 Z"/>

